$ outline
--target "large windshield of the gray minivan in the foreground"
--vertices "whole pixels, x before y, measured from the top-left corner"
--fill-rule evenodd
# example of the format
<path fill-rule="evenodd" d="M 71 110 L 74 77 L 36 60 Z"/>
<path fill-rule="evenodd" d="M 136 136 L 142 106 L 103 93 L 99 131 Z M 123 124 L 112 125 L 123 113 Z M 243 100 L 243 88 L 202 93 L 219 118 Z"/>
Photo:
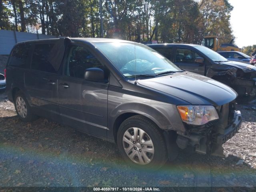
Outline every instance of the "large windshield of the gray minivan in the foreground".
<path fill-rule="evenodd" d="M 176 65 L 155 50 L 143 44 L 104 42 L 94 44 L 126 77 L 148 75 L 154 77 L 163 72 L 180 72 Z"/>

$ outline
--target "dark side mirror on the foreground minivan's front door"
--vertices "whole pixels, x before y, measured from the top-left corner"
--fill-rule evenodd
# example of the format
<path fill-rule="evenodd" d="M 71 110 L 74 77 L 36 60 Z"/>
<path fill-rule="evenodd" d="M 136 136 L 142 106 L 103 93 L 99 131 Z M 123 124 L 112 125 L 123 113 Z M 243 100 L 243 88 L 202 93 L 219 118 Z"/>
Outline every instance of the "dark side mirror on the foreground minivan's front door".
<path fill-rule="evenodd" d="M 104 82 L 104 71 L 100 68 L 88 68 L 84 72 L 84 79 L 89 81 Z"/>

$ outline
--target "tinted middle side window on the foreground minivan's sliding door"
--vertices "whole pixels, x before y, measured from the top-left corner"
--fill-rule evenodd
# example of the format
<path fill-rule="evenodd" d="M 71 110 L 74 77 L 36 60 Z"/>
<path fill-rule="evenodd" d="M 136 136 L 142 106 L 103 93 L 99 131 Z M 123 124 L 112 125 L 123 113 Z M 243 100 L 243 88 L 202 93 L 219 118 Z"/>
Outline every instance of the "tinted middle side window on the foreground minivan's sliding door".
<path fill-rule="evenodd" d="M 57 73 L 48 60 L 49 53 L 54 44 L 36 44 L 32 56 L 31 68 L 35 70 Z"/>

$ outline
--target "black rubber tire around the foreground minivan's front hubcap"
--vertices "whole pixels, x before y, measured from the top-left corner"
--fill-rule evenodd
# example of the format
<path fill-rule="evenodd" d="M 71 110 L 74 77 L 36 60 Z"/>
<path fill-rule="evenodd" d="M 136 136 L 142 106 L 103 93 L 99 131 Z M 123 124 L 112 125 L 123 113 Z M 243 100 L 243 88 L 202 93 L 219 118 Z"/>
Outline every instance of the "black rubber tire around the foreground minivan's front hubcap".
<path fill-rule="evenodd" d="M 139 162 L 134 162 L 133 160 L 131 160 L 129 157 L 128 157 L 128 154 L 126 154 L 125 152 L 125 145 L 127 145 L 128 143 L 126 143 L 125 141 L 123 141 L 123 137 L 124 137 L 124 134 L 127 132 L 126 131 L 129 131 L 129 130 L 134 130 L 133 128 L 139 128 L 138 130 L 142 130 L 144 131 L 145 133 L 143 133 L 142 131 L 142 135 L 146 136 L 146 141 L 147 139 L 148 140 L 151 140 L 152 144 L 153 144 L 153 150 L 154 150 L 154 154 L 152 156 L 152 154 L 149 154 L 148 152 L 147 153 L 147 157 L 148 155 L 151 156 L 151 160 L 150 162 L 146 163 L 146 164 L 140 164 Z M 140 133 L 140 131 L 138 131 L 138 133 Z M 149 136 L 149 137 L 148 137 Z M 128 138 L 128 137 L 126 137 Z M 138 136 L 137 138 L 140 138 L 140 136 Z M 144 138 L 145 139 L 145 138 Z M 145 140 L 142 139 L 144 142 Z M 134 139 L 136 140 L 136 139 Z M 134 140 L 131 140 L 134 144 Z M 141 141 L 142 142 L 142 141 Z M 140 147 L 141 143 L 140 142 L 136 142 L 133 146 L 131 144 L 131 154 L 136 152 L 138 154 L 141 154 L 140 157 L 140 160 L 143 160 L 143 162 L 145 163 L 145 149 L 147 150 L 149 146 L 146 146 L 146 148 L 143 148 L 144 146 Z M 143 144 L 143 143 L 142 143 Z M 165 140 L 164 140 L 164 137 L 163 135 L 161 134 L 158 126 L 156 126 L 156 124 L 154 124 L 153 122 L 151 122 L 150 120 L 148 120 L 147 118 L 141 116 L 141 115 L 136 115 L 136 116 L 132 116 L 128 119 L 126 119 L 124 122 L 122 122 L 122 124 L 120 125 L 119 129 L 118 129 L 118 133 L 117 133 L 117 145 L 118 145 L 118 149 L 120 150 L 124 160 L 130 164 L 131 166 L 133 167 L 136 167 L 136 168 L 146 168 L 146 169 L 158 169 L 160 168 L 161 166 L 163 166 L 166 161 L 167 161 L 167 150 L 166 150 L 166 144 L 165 144 Z M 137 147 L 138 148 L 134 148 L 134 146 L 138 145 Z M 129 148 L 130 145 L 128 144 L 128 147 Z M 127 149 L 126 148 L 126 149 Z M 139 150 L 140 150 L 140 153 L 139 153 Z M 143 150 L 143 151 L 142 151 Z M 128 151 L 128 150 L 127 150 Z M 143 154 L 142 154 L 143 153 Z M 131 155 L 129 154 L 129 155 Z M 135 157 L 137 158 L 137 157 Z M 137 158 L 138 161 L 139 158 Z"/>

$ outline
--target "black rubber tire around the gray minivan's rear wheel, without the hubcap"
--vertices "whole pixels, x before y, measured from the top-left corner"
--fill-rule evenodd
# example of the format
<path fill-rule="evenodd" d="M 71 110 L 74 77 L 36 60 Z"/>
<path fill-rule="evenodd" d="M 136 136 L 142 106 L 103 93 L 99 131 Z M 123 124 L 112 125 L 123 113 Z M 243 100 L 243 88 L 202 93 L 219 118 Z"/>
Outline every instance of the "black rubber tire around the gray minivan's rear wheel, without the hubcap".
<path fill-rule="evenodd" d="M 17 98 L 22 98 L 25 102 L 25 108 L 26 108 L 26 116 L 22 116 L 20 114 L 20 112 L 18 112 L 18 108 L 19 106 L 17 106 Z M 33 120 L 36 120 L 36 118 L 38 118 L 38 116 L 36 116 L 35 114 L 33 114 L 32 110 L 31 110 L 31 107 L 30 105 L 28 104 L 28 100 L 26 98 L 26 96 L 23 94 L 22 91 L 18 91 L 15 96 L 14 96 L 14 106 L 15 106 L 15 110 L 16 110 L 16 113 L 18 115 L 18 117 L 24 121 L 24 122 L 32 122 Z"/>

